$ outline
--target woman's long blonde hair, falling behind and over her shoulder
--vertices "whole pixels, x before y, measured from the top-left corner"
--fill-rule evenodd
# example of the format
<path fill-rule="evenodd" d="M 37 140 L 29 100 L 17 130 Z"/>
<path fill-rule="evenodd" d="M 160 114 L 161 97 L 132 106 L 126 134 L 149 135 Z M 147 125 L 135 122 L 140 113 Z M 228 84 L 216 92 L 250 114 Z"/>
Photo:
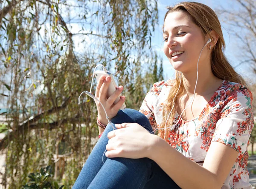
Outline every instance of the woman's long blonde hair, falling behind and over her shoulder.
<path fill-rule="evenodd" d="M 166 16 L 175 11 L 181 11 L 186 13 L 190 16 L 191 20 L 201 28 L 201 31 L 204 35 L 210 35 L 210 32 L 213 30 L 215 31 L 219 38 L 216 43 L 216 45 L 212 49 L 211 54 L 211 67 L 212 67 L 212 73 L 218 77 L 219 79 L 231 81 L 240 83 L 246 86 L 246 83 L 244 79 L 236 73 L 236 71 L 233 69 L 233 67 L 230 65 L 230 63 L 227 61 L 227 58 L 224 55 L 224 48 L 225 48 L 225 41 L 224 37 L 221 31 L 221 24 L 218 20 L 217 15 L 215 12 L 209 8 L 208 6 L 197 3 L 197 2 L 182 2 L 178 3 L 174 7 L 166 7 L 168 11 L 166 12 L 166 15 L 164 17 L 164 21 L 166 19 Z M 164 28 L 164 25 L 163 25 Z M 210 37 L 212 39 L 212 37 Z M 212 40 L 213 41 L 213 40 Z M 168 133 L 170 131 L 170 126 L 173 125 L 173 118 L 175 116 L 175 112 L 177 111 L 178 105 L 177 105 L 177 99 L 183 95 L 184 92 L 184 85 L 183 85 L 183 75 L 181 72 L 176 71 L 176 82 L 174 86 L 172 87 L 172 90 L 169 92 L 169 96 L 166 100 L 166 104 L 163 107 L 163 122 L 160 124 L 158 130 L 158 136 L 161 138 L 167 140 Z M 180 85 L 180 88 L 179 88 Z M 177 93 L 176 97 L 175 94 Z M 175 99 L 174 99 L 175 97 Z M 174 102 L 173 103 L 173 99 Z M 174 108 L 172 110 L 172 107 L 174 105 Z M 170 111 L 172 110 L 172 113 L 169 115 Z M 169 115 L 169 119 L 167 120 L 167 117 Z M 166 123 L 167 120 L 167 123 Z M 166 136 L 165 131 L 163 128 L 165 128 L 166 124 Z"/>

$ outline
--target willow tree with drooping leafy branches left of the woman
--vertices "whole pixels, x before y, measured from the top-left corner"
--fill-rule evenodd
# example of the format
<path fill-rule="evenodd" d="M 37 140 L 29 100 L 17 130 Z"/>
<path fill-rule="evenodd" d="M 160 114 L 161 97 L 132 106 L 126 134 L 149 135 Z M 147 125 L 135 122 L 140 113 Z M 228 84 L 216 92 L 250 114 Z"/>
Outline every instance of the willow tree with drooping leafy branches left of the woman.
<path fill-rule="evenodd" d="M 96 106 L 86 96 L 77 105 L 79 94 L 90 89 L 95 65 L 104 64 L 124 85 L 128 108 L 140 107 L 149 82 L 144 68 L 154 58 L 157 1 L 1 3 L 0 106 L 7 108 L 2 185 L 20 188 L 30 172 L 53 166 L 64 154 L 59 180 L 72 186 L 98 132 Z"/>

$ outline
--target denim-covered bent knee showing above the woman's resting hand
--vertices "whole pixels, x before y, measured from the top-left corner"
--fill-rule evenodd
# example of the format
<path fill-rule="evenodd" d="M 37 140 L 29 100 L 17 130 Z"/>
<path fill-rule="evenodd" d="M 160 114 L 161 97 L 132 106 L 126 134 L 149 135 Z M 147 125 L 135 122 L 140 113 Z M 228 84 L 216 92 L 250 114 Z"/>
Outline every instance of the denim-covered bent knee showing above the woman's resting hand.
<path fill-rule="evenodd" d="M 111 122 L 114 124 L 125 122 L 138 123 L 148 131 L 153 131 L 148 118 L 143 113 L 130 108 L 119 110 L 117 115 L 111 119 Z"/>

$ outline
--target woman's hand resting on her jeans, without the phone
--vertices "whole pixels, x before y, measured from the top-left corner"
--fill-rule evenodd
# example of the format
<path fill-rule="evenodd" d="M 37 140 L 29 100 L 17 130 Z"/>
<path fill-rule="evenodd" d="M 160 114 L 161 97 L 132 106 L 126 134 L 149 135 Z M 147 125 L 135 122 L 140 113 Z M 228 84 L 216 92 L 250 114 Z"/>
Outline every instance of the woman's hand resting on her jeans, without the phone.
<path fill-rule="evenodd" d="M 150 134 L 137 123 L 116 124 L 116 130 L 108 133 L 106 157 L 138 159 L 151 157 L 157 136 Z"/>

